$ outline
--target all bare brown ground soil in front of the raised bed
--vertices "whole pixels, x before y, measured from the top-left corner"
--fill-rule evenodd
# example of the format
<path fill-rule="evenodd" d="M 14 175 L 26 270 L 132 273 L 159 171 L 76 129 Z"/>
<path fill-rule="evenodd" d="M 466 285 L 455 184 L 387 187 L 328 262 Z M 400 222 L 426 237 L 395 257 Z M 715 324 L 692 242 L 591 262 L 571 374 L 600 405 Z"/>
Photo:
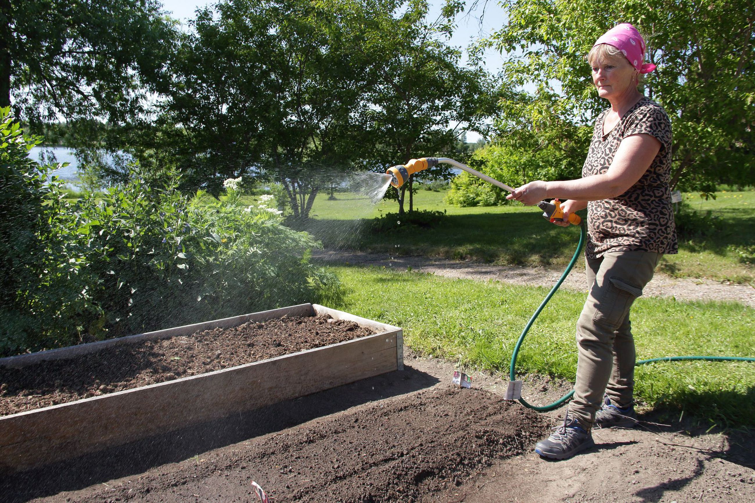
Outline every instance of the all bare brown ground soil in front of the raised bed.
<path fill-rule="evenodd" d="M 275 503 L 755 501 L 750 431 L 641 414 L 639 428 L 593 430 L 596 447 L 550 462 L 532 448 L 565 408 L 504 402 L 507 373 L 467 369 L 473 389 L 451 388 L 454 363 L 408 348 L 404 368 L 0 477 L 0 501 L 252 503 L 251 480 Z M 568 388 L 536 377 L 531 403 Z"/>

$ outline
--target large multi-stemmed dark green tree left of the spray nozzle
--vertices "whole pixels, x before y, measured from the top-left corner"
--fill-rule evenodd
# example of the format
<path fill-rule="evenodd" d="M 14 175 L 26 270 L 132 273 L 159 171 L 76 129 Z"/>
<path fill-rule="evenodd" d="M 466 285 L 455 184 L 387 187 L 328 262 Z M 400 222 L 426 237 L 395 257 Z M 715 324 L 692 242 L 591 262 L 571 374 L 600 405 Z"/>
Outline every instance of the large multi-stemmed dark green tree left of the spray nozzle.
<path fill-rule="evenodd" d="M 200 11 L 159 118 L 183 181 L 217 194 L 223 179 L 265 168 L 306 217 L 319 188 L 364 157 L 365 39 L 387 5 L 223 0 Z"/>

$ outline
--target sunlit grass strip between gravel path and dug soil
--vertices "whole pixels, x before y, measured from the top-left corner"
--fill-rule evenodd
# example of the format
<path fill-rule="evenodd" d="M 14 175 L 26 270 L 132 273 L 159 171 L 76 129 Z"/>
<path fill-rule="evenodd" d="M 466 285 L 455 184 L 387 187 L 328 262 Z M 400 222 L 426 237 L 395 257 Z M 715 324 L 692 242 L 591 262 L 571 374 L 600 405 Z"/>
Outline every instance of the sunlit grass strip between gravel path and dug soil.
<path fill-rule="evenodd" d="M 550 287 L 442 278 L 385 268 L 338 267 L 344 296 L 328 305 L 402 327 L 423 354 L 507 372 L 516 339 Z M 558 292 L 529 331 L 518 373 L 574 379 L 575 322 L 584 294 Z M 638 299 L 637 359 L 682 355 L 755 357 L 755 309 L 731 302 Z M 652 363 L 637 369 L 636 396 L 710 425 L 755 425 L 755 363 Z M 678 416 L 677 416 L 678 417 Z"/>

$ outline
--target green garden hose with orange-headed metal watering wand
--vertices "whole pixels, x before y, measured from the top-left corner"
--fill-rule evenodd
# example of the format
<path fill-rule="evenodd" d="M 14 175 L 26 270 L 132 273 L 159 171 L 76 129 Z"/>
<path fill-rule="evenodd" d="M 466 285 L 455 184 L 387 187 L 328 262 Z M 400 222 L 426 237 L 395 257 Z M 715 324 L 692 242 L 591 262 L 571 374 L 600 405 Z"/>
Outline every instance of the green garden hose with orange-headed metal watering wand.
<path fill-rule="evenodd" d="M 451 166 L 455 166 L 455 167 L 458 167 L 460 170 L 467 171 L 467 173 L 473 174 L 474 176 L 477 176 L 479 179 L 485 180 L 485 182 L 490 182 L 497 187 L 501 187 L 501 189 L 507 190 L 508 192 L 514 192 L 514 189 L 510 186 L 507 186 L 505 183 L 499 182 L 497 179 L 493 179 L 490 176 L 480 173 L 479 171 L 473 170 L 471 167 L 467 166 L 466 164 L 461 164 L 461 162 L 454 161 L 453 159 L 449 159 L 445 157 L 440 157 L 440 158 L 423 157 L 419 159 L 411 159 L 411 161 L 408 161 L 408 163 L 406 164 L 398 164 L 396 166 L 389 167 L 386 173 L 392 176 L 390 180 L 390 185 L 398 189 L 409 179 L 409 176 L 411 176 L 412 174 L 417 173 L 418 171 L 421 171 L 421 170 L 426 170 L 428 167 L 437 166 L 439 163 L 451 164 Z M 558 199 L 553 199 L 553 201 L 551 202 L 540 201 L 538 203 L 538 207 L 541 210 L 543 210 L 543 217 L 547 220 L 550 220 L 550 222 L 554 222 L 556 219 L 563 219 L 564 213 L 563 213 L 563 210 L 561 209 L 561 204 Z M 559 281 L 557 281 L 556 284 L 553 285 L 553 288 L 550 290 L 547 296 L 545 296 L 545 299 L 543 299 L 543 302 L 541 302 L 540 306 L 535 310 L 535 313 L 532 314 L 532 317 L 529 319 L 529 322 L 524 327 L 524 330 L 522 330 L 522 334 L 519 336 L 519 339 L 516 341 L 516 346 L 514 346 L 514 350 L 511 354 L 511 365 L 509 369 L 509 386 L 506 391 L 506 398 L 507 400 L 519 400 L 519 403 L 522 403 L 522 405 L 528 407 L 529 409 L 537 410 L 539 412 L 545 412 L 547 410 L 557 409 L 559 406 L 562 406 L 563 403 L 569 400 L 569 398 L 571 398 L 572 395 L 574 395 L 574 391 L 571 391 L 565 394 L 563 397 L 559 398 L 559 400 L 556 400 L 555 402 L 550 403 L 548 405 L 544 405 L 544 406 L 532 405 L 531 403 L 527 403 L 527 401 L 524 400 L 524 398 L 522 398 L 522 381 L 516 380 L 516 373 L 515 373 L 516 357 L 519 354 L 519 348 L 522 347 L 522 342 L 524 342 L 524 338 L 527 335 L 527 332 L 529 332 L 530 327 L 532 327 L 532 324 L 535 323 L 535 320 L 537 319 L 538 315 L 543 310 L 545 305 L 548 303 L 550 298 L 553 296 L 554 293 L 556 293 L 556 290 L 559 289 L 561 284 L 569 275 L 569 272 L 572 271 L 572 268 L 574 267 L 575 263 L 577 262 L 577 259 L 582 253 L 582 249 L 584 248 L 584 243 L 585 241 L 587 241 L 587 229 L 585 228 L 585 225 L 584 225 L 584 222 L 582 222 L 582 219 L 576 213 L 570 213 L 569 222 L 572 223 L 572 225 L 579 225 L 580 235 L 579 235 L 579 244 L 577 245 L 577 250 L 575 251 L 574 256 L 572 256 L 572 260 L 569 262 L 569 265 L 567 265 L 565 271 L 561 275 L 561 278 L 559 278 Z M 639 360 L 635 363 L 635 365 L 644 365 L 646 363 L 655 363 L 658 361 L 686 361 L 686 360 L 755 362 L 755 358 L 751 358 L 751 357 L 673 356 L 673 357 L 651 358 L 649 360 Z"/>

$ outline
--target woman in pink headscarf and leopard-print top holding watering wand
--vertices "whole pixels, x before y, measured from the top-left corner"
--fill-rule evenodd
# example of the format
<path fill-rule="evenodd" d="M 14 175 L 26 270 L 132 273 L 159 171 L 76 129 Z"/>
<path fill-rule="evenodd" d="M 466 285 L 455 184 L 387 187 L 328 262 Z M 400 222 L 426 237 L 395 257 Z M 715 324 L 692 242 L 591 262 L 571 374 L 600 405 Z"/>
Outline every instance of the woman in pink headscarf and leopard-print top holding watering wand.
<path fill-rule="evenodd" d="M 611 104 L 595 121 L 582 178 L 536 180 L 507 196 L 524 204 L 565 201 L 569 213 L 587 208 L 589 295 L 577 322 L 575 394 L 564 424 L 535 452 L 566 459 L 593 446 L 590 429 L 631 427 L 634 340 L 629 309 L 664 253 L 676 253 L 670 200 L 671 124 L 657 103 L 640 94 L 645 41 L 622 23 L 598 38 L 587 60 L 599 97 Z M 605 397 L 604 397 L 605 394 Z M 602 404 L 602 408 L 601 408 Z"/>

